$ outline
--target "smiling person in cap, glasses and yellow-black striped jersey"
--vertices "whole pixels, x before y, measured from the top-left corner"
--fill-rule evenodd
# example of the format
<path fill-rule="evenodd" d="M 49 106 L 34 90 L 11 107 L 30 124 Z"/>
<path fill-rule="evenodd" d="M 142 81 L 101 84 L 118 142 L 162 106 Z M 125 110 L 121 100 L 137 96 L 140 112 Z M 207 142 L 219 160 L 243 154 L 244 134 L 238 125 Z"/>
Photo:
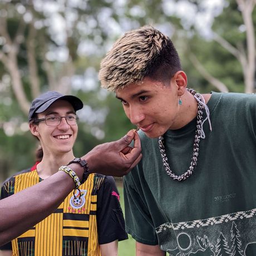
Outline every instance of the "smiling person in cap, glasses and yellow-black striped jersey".
<path fill-rule="evenodd" d="M 0 247 L 3 255 L 111 256 L 117 255 L 117 242 L 127 239 L 119 192 L 112 176 L 91 173 L 83 176 L 85 182 L 81 184 L 69 167 L 79 163 L 87 174 L 86 160 L 73 155 L 78 132 L 76 111 L 82 107 L 77 97 L 55 91 L 33 100 L 28 119 L 32 135 L 41 144 L 37 162 L 3 184 L 1 199 L 48 179 L 58 170 L 71 176 L 75 189 L 54 213 Z"/>

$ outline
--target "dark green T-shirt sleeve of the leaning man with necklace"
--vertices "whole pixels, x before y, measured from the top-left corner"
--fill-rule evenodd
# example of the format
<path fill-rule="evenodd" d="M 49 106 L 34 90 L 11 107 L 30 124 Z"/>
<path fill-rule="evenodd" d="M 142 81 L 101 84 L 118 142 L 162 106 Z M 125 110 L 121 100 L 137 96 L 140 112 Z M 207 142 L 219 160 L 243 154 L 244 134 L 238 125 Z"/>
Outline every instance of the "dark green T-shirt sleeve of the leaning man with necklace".
<path fill-rule="evenodd" d="M 136 168 L 124 177 L 125 225 L 126 232 L 131 234 L 137 242 L 147 245 L 157 245 L 158 239 L 147 200 L 141 185 L 134 180 L 140 180 Z M 141 181 L 140 181 L 141 182 Z M 146 190 L 147 188 L 144 187 Z M 149 189 L 149 188 L 148 188 Z M 150 191 L 149 193 L 150 194 Z M 152 209 L 151 209 L 152 210 Z"/>

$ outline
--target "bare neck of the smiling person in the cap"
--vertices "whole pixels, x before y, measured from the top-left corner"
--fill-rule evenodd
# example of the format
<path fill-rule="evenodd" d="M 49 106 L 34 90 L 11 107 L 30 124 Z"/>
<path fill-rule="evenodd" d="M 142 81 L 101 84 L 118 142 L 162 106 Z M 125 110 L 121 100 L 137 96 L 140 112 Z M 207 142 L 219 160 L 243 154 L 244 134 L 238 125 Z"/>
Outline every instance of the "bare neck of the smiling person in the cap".
<path fill-rule="evenodd" d="M 40 178 L 47 179 L 51 175 L 57 173 L 60 166 L 67 165 L 74 158 L 73 151 L 58 156 L 44 154 L 42 161 L 37 164 L 37 173 Z"/>

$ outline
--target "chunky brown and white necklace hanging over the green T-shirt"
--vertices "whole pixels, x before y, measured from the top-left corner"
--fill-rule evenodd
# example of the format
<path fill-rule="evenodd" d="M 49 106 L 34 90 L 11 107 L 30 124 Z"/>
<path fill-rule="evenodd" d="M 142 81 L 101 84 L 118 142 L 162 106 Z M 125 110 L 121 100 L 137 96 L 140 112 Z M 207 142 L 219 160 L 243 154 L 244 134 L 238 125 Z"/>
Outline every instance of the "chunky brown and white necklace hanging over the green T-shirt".
<path fill-rule="evenodd" d="M 201 129 L 202 129 L 202 119 L 203 119 L 203 109 L 204 109 L 203 104 L 201 104 L 201 100 L 202 100 L 201 95 L 199 93 L 196 93 L 196 91 L 193 89 L 187 89 L 187 90 L 199 101 L 196 100 L 196 102 L 198 104 L 198 108 L 197 108 L 197 114 L 196 114 L 196 131 L 195 131 L 195 139 L 194 139 L 194 145 L 193 145 L 193 155 L 191 158 L 192 161 L 190 163 L 189 169 L 187 171 L 185 171 L 184 174 L 181 174 L 178 176 L 175 173 L 173 173 L 173 171 L 171 171 L 169 163 L 168 163 L 168 158 L 167 158 L 166 152 L 165 152 L 164 137 L 160 136 L 159 141 L 158 141 L 161 157 L 162 157 L 163 164 L 164 164 L 164 169 L 165 169 L 166 173 L 171 178 L 173 178 L 174 180 L 178 180 L 178 181 L 183 181 L 183 180 L 189 178 L 193 174 L 194 168 L 198 161 L 199 142 L 201 139 Z"/>

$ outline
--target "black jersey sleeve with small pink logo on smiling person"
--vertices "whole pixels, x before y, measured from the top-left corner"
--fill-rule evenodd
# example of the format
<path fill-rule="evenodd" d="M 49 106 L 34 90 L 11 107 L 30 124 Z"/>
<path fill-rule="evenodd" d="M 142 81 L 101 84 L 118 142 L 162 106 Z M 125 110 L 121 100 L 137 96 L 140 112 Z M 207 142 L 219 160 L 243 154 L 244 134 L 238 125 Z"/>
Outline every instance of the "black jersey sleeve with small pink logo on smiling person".
<path fill-rule="evenodd" d="M 106 176 L 97 194 L 97 227 L 99 244 L 128 238 L 119 202 L 120 195 L 112 176 Z"/>

